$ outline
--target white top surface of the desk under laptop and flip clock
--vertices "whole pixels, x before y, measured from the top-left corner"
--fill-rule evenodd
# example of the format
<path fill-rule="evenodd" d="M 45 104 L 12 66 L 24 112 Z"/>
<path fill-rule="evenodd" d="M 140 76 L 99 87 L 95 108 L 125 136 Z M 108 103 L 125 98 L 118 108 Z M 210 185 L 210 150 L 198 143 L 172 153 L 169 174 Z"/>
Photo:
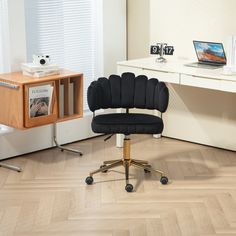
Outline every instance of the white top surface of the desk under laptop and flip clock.
<path fill-rule="evenodd" d="M 185 66 L 192 61 L 168 59 L 166 63 L 157 63 L 156 57 L 141 58 L 136 60 L 128 60 L 118 62 L 118 66 L 130 66 L 146 70 L 162 71 L 169 73 L 182 73 L 192 76 L 200 76 L 205 78 L 212 78 L 218 80 L 229 80 L 236 82 L 236 75 L 223 74 L 223 68 L 219 69 L 205 69 Z"/>

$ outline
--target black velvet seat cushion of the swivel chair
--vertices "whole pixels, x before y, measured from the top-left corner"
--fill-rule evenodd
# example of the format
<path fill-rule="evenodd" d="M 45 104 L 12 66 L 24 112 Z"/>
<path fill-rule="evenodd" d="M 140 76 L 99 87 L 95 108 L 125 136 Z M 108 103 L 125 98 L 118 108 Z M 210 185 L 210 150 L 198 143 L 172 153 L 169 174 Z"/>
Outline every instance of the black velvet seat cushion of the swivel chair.
<path fill-rule="evenodd" d="M 105 134 L 160 134 L 163 131 L 163 122 L 154 115 L 112 113 L 95 116 L 92 130 Z"/>

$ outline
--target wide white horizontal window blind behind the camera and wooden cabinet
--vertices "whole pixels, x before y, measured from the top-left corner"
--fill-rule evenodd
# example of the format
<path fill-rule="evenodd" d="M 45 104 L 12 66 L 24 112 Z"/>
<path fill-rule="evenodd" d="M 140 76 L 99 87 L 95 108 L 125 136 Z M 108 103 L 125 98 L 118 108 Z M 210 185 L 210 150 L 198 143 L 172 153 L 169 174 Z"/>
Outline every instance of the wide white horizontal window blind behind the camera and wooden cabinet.
<path fill-rule="evenodd" d="M 103 68 L 102 0 L 25 0 L 27 60 L 49 54 L 62 68 L 84 74 L 87 87 Z"/>

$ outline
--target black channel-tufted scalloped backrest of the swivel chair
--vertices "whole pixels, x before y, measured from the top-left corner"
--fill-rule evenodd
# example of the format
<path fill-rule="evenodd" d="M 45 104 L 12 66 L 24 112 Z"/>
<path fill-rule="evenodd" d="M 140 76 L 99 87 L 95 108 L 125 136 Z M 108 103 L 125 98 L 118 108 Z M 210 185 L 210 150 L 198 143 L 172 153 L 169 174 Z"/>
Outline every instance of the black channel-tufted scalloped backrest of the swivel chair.
<path fill-rule="evenodd" d="M 165 83 L 148 79 L 145 75 L 135 77 L 129 72 L 93 81 L 87 95 L 92 112 L 107 108 L 156 109 L 165 112 L 169 102 Z"/>

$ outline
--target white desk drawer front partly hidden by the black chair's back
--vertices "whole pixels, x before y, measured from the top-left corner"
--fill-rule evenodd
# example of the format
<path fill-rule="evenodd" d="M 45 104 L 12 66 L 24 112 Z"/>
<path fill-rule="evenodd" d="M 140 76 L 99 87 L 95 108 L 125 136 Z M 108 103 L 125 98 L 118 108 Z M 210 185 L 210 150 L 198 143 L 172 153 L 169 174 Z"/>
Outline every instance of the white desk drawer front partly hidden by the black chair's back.
<path fill-rule="evenodd" d="M 153 71 L 153 70 L 143 70 L 143 74 L 146 75 L 149 79 L 156 78 L 159 81 L 179 84 L 179 74 L 172 72 L 164 72 L 164 71 Z"/>

